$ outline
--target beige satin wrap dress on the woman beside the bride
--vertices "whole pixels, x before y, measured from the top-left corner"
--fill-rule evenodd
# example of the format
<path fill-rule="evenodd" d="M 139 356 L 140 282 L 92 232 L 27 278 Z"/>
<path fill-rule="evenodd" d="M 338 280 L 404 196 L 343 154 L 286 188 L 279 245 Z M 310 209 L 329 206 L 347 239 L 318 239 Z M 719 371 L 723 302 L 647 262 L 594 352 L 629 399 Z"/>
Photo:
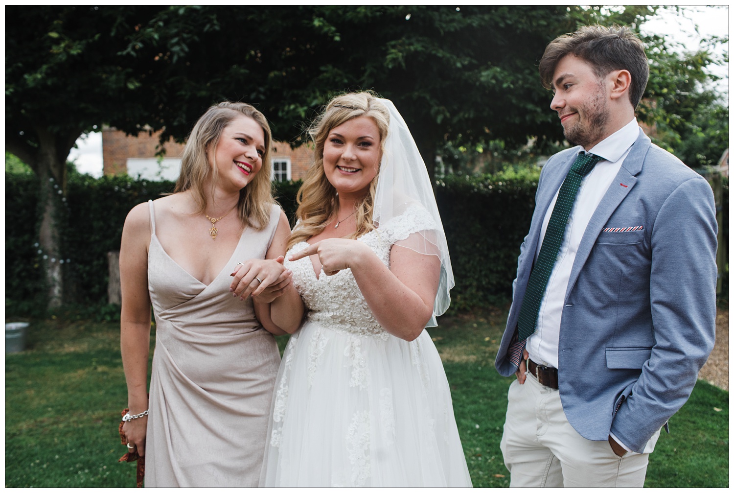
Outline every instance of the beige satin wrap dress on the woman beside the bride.
<path fill-rule="evenodd" d="M 280 354 L 252 309 L 234 298 L 237 262 L 264 259 L 280 208 L 263 231 L 246 228 L 211 284 L 183 270 L 156 237 L 148 289 L 156 317 L 145 486 L 257 486 Z"/>

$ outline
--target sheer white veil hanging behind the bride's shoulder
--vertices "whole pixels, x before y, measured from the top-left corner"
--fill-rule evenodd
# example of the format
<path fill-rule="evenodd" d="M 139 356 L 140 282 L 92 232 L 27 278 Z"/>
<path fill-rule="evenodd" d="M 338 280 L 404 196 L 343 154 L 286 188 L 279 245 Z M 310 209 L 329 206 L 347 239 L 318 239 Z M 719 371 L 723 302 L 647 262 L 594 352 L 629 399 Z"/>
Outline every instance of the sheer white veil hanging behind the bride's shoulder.
<path fill-rule="evenodd" d="M 448 258 L 446 234 L 438 215 L 433 187 L 426 165 L 418 152 L 413 135 L 395 105 L 389 99 L 379 98 L 390 113 L 390 127 L 385 139 L 382 161 L 379 165 L 377 191 L 374 197 L 373 221 L 375 226 L 385 225 L 403 214 L 410 205 L 420 204 L 432 219 L 432 229 L 416 231 L 396 245 L 410 248 L 425 255 L 436 255 L 441 261 L 441 274 L 433 305 L 433 316 L 426 327 L 435 327 L 436 317 L 446 312 L 454 287 L 454 273 Z"/>

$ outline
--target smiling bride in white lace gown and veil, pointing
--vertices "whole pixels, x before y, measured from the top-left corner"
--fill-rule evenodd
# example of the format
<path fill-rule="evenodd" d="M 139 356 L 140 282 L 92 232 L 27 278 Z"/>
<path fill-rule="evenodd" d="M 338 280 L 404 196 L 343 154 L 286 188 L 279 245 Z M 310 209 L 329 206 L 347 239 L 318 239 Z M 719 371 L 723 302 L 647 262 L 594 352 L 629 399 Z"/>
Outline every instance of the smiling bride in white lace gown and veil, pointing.
<path fill-rule="evenodd" d="M 286 267 L 305 320 L 277 375 L 261 486 L 471 486 L 426 326 L 454 286 L 428 173 L 393 103 L 348 93 L 310 134 Z"/>

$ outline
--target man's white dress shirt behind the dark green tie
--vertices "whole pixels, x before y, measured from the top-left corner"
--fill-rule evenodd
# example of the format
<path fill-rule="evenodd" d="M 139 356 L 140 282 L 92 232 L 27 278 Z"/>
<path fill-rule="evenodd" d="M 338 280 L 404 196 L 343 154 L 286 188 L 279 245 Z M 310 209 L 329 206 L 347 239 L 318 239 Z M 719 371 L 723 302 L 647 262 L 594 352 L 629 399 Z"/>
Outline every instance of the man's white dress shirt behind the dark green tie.
<path fill-rule="evenodd" d="M 630 123 L 589 150 L 592 154 L 602 157 L 603 160 L 597 162 L 594 169 L 581 180 L 581 187 L 578 189 L 578 195 L 576 195 L 568 216 L 568 226 L 559 248 L 556 265 L 553 266 L 551 278 L 548 279 L 548 286 L 545 288 L 545 295 L 540 302 L 536 331 L 527 339 L 526 348 L 530 359 L 538 364 L 558 368 L 561 315 L 578 245 L 581 244 L 581 237 L 584 236 L 589 220 L 614 181 L 614 177 L 617 176 L 622 162 L 629 154 L 637 137 L 639 137 L 639 126 L 637 120 L 633 118 Z M 551 220 L 553 206 L 556 205 L 556 198 L 558 198 L 557 191 L 551 206 L 548 207 L 548 212 L 545 213 L 540 231 L 541 240 L 535 251 L 536 260 L 540 253 L 542 238 L 545 237 L 545 229 L 548 228 L 548 221 Z"/>

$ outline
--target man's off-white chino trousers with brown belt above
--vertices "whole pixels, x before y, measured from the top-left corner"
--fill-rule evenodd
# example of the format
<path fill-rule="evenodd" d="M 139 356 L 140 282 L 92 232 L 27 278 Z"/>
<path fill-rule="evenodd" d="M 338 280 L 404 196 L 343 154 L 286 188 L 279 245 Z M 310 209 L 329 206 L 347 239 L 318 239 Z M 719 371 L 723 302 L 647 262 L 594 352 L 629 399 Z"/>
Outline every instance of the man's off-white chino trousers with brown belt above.
<path fill-rule="evenodd" d="M 534 375 L 528 373 L 523 385 L 512 382 L 507 397 L 500 447 L 511 487 L 643 486 L 659 430 L 644 453 L 619 457 L 606 440 L 594 442 L 579 435 L 566 419 L 559 391 L 539 384 Z"/>

